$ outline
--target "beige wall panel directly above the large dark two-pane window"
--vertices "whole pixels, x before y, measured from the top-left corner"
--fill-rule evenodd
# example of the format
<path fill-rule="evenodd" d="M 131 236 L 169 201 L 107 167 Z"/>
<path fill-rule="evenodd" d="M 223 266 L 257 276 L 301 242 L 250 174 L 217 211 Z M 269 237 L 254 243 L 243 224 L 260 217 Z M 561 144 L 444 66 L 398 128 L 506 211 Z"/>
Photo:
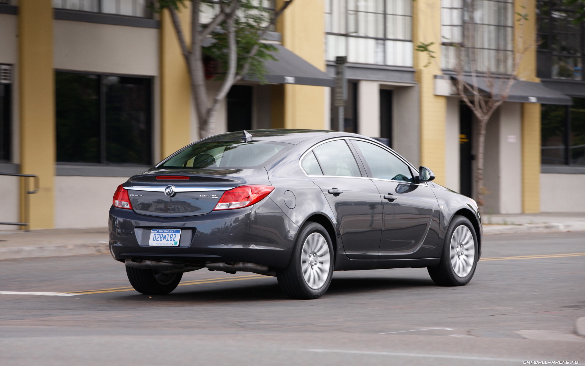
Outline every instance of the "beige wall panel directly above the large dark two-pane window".
<path fill-rule="evenodd" d="M 55 69 L 157 76 L 159 30 L 54 20 Z"/>

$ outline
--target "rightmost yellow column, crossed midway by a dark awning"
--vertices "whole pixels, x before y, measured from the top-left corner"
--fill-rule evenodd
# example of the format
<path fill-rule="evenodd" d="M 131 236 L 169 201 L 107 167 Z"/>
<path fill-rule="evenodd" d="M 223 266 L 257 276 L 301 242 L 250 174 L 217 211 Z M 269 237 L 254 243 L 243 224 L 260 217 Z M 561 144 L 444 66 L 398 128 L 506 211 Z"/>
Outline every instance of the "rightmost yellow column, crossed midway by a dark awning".
<path fill-rule="evenodd" d="M 514 17 L 515 52 L 523 53 L 518 68 L 520 80 L 540 82 L 536 77 L 536 2 L 515 0 L 515 12 L 528 15 L 520 23 Z M 522 104 L 522 211 L 540 212 L 541 192 L 541 105 Z"/>

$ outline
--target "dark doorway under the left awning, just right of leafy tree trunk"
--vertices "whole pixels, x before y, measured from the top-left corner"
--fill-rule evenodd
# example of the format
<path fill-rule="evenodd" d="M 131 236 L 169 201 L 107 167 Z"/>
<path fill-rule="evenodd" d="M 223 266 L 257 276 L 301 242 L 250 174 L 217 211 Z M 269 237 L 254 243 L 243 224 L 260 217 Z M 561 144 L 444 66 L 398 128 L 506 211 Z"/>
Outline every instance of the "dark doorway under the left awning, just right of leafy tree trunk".
<path fill-rule="evenodd" d="M 252 95 L 249 85 L 233 85 L 228 93 L 228 132 L 252 129 Z"/>

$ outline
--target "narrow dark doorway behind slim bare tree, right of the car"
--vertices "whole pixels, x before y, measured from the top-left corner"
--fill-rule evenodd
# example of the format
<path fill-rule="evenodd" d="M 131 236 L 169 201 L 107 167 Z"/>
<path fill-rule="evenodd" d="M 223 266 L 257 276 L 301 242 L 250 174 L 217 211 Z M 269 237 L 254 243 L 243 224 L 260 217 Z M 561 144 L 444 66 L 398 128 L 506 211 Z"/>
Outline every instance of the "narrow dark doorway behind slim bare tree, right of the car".
<path fill-rule="evenodd" d="M 474 160 L 472 150 L 473 111 L 464 102 L 459 107 L 459 193 L 472 196 Z"/>

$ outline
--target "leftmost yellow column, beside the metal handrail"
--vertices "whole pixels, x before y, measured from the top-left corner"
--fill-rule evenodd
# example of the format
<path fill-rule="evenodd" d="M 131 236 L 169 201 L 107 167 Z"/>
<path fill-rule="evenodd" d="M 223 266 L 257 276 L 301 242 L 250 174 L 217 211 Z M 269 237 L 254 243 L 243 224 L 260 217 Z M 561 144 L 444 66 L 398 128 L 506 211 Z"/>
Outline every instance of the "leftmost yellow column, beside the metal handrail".
<path fill-rule="evenodd" d="M 53 8 L 51 0 L 18 3 L 20 172 L 40 181 L 38 193 L 30 195 L 30 228 L 51 228 L 56 156 Z"/>

